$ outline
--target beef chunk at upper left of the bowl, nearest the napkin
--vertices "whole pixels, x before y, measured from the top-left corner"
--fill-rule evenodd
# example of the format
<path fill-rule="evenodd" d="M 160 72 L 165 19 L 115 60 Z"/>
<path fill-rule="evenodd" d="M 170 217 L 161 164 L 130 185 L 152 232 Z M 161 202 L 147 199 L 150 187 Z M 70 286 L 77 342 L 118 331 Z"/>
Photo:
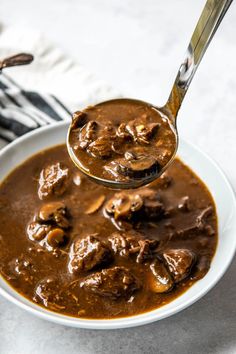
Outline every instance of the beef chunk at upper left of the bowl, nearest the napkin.
<path fill-rule="evenodd" d="M 60 162 L 44 168 L 39 176 L 38 195 L 45 199 L 52 195 L 62 195 L 68 185 L 69 170 Z"/>

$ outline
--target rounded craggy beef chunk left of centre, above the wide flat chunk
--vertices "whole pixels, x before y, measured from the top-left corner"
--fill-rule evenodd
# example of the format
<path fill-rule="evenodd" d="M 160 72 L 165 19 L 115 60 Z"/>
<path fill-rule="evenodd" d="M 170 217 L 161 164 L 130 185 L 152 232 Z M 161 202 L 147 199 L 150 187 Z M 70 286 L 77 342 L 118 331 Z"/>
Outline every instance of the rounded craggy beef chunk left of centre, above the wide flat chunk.
<path fill-rule="evenodd" d="M 108 264 L 111 260 L 112 253 L 105 242 L 95 236 L 87 236 L 73 243 L 68 267 L 71 273 L 80 273 Z"/>

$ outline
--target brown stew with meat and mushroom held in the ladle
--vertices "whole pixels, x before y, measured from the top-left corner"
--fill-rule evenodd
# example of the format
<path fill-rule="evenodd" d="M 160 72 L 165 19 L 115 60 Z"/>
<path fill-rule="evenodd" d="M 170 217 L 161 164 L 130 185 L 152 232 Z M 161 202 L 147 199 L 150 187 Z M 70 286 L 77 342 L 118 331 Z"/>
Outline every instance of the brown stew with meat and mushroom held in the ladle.
<path fill-rule="evenodd" d="M 118 99 L 75 112 L 69 145 L 86 174 L 145 184 L 172 159 L 176 134 L 157 107 Z"/>

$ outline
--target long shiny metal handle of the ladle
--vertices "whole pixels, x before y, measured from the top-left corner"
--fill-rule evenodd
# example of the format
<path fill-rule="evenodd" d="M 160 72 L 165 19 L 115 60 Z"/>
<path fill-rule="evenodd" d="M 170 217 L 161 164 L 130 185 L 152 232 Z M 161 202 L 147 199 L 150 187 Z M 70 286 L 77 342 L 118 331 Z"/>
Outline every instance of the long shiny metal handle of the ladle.
<path fill-rule="evenodd" d="M 177 116 L 192 78 L 207 50 L 217 28 L 233 0 L 207 0 L 197 26 L 193 32 L 183 63 L 181 64 L 164 109 Z"/>

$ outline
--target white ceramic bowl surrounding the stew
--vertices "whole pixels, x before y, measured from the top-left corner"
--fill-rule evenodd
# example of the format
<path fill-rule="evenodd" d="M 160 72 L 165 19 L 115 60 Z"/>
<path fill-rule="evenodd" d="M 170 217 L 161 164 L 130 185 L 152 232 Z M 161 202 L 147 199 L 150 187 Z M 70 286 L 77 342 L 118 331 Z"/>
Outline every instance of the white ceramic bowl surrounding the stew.
<path fill-rule="evenodd" d="M 42 149 L 64 143 L 68 123 L 61 122 L 26 134 L 0 152 L 0 180 L 17 165 Z M 195 146 L 180 141 L 178 156 L 208 186 L 217 206 L 219 242 L 211 268 L 206 276 L 196 282 L 183 295 L 154 311 L 138 316 L 111 320 L 79 319 L 56 314 L 28 301 L 0 277 L 0 294 L 28 312 L 66 326 L 90 329 L 114 329 L 143 325 L 171 316 L 205 295 L 223 276 L 236 248 L 236 202 L 234 192 L 220 168 Z"/>

